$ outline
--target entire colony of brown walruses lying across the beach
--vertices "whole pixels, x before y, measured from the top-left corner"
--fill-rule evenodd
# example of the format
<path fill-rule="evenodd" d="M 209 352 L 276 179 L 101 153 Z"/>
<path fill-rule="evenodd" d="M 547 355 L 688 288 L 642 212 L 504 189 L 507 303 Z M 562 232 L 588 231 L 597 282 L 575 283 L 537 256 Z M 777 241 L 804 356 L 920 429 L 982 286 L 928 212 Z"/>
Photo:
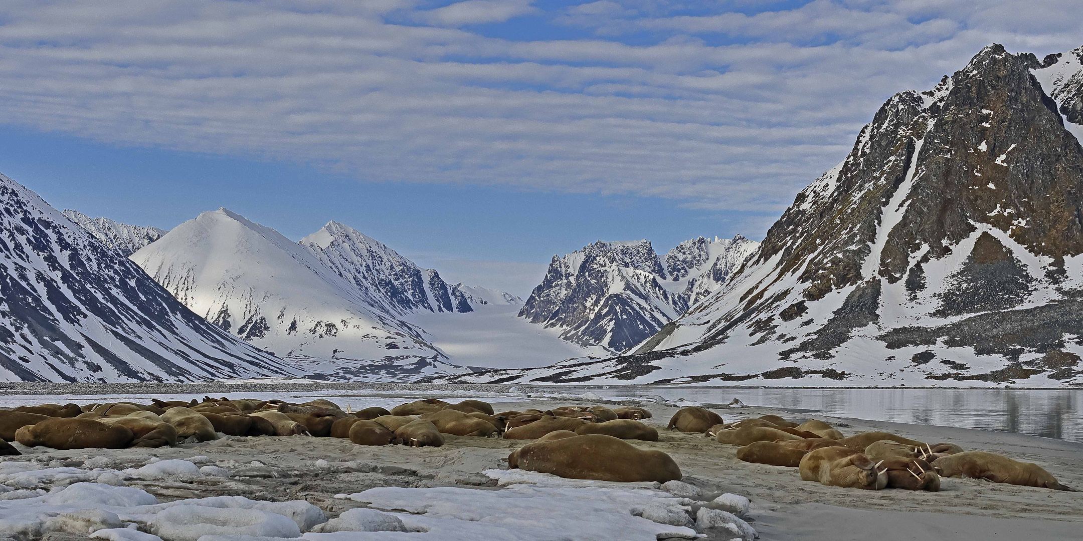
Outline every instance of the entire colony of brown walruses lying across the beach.
<path fill-rule="evenodd" d="M 329 400 L 210 398 L 199 403 L 152 400 L 65 406 L 45 404 L 0 410 L 0 454 L 18 454 L 6 441 L 53 449 L 164 447 L 230 436 L 313 436 L 348 438 L 366 446 L 444 444 L 442 434 L 534 440 L 508 457 L 509 467 L 565 478 L 658 481 L 681 478 L 665 452 L 625 440 L 657 441 L 658 433 L 637 407 L 564 406 L 549 410 L 494 412 L 481 400 L 449 404 L 429 398 L 388 411 L 344 411 Z M 764 415 L 726 424 L 699 407 L 678 410 L 669 430 L 702 433 L 739 446 L 745 462 L 798 469 L 804 480 L 869 490 L 940 488 L 940 476 L 982 478 L 1057 490 L 1061 485 L 1041 466 L 949 443 L 928 444 L 884 432 L 846 437 L 822 421 L 797 423 Z"/>

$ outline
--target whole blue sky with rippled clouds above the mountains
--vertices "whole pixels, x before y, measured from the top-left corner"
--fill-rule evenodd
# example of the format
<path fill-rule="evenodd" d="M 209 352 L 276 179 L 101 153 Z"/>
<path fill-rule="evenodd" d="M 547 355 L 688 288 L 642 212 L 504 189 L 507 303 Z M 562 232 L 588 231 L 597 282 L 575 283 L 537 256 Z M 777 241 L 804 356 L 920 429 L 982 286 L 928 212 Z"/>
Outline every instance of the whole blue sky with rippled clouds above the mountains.
<path fill-rule="evenodd" d="M 525 295 L 595 239 L 759 238 L 892 93 L 1079 0 L 5 0 L 0 172 L 169 228 L 328 220 Z"/>

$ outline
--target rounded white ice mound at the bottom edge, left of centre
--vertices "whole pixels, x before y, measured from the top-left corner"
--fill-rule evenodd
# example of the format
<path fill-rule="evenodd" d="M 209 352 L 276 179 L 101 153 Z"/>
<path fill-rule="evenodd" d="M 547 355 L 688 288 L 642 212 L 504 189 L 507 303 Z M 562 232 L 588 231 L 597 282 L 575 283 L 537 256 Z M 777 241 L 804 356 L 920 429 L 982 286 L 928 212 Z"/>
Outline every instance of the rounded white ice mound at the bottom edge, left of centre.
<path fill-rule="evenodd" d="M 178 505 L 158 513 L 151 531 L 165 541 L 196 541 L 203 536 L 298 538 L 301 530 L 289 518 L 255 509 Z"/>

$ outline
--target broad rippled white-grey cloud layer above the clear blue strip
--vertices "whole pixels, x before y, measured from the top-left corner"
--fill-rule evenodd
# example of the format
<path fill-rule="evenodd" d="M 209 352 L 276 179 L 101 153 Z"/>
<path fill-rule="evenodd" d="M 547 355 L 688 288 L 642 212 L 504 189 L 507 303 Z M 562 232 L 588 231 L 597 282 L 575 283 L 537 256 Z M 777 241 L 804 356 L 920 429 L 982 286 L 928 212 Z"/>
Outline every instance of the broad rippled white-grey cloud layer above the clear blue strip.
<path fill-rule="evenodd" d="M 11 0 L 0 122 L 362 181 L 778 213 L 892 93 L 992 41 L 1078 47 L 1074 4 Z M 530 39 L 469 29 L 526 13 Z"/>

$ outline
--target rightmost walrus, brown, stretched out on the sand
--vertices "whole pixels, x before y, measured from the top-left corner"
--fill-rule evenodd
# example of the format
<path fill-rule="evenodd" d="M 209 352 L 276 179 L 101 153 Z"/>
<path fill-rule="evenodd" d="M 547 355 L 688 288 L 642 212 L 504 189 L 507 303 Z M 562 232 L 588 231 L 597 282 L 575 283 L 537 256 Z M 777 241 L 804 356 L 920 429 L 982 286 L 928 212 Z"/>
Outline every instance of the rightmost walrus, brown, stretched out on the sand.
<path fill-rule="evenodd" d="M 963 451 L 940 457 L 932 461 L 932 467 L 944 477 L 971 477 L 1023 487 L 1078 491 L 1061 485 L 1053 474 L 1038 464 L 1019 462 L 991 452 Z"/>

